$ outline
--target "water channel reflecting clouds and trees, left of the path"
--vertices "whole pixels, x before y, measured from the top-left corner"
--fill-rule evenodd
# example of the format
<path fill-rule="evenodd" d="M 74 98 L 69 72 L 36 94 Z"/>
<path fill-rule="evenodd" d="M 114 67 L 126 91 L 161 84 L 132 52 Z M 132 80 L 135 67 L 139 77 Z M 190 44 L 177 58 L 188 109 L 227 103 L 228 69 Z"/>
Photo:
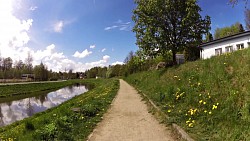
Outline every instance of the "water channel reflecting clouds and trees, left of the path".
<path fill-rule="evenodd" d="M 87 88 L 82 85 L 69 86 L 36 97 L 0 103 L 0 126 L 11 124 L 35 113 L 55 107 L 86 91 Z"/>

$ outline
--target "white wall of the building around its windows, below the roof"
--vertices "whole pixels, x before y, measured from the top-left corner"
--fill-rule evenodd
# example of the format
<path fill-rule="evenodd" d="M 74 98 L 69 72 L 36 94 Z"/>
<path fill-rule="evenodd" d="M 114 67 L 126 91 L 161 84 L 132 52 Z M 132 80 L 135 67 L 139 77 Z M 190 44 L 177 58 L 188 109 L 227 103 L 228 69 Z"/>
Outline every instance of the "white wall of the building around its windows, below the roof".
<path fill-rule="evenodd" d="M 226 53 L 226 47 L 232 46 L 233 51 L 237 50 L 237 44 L 244 44 L 244 48 L 248 48 L 250 46 L 250 36 L 244 36 L 236 39 L 231 39 L 227 41 L 223 41 L 220 43 L 215 43 L 212 45 L 207 45 L 202 47 L 201 58 L 208 59 L 212 56 L 215 56 L 215 50 L 221 48 L 222 53 Z"/>

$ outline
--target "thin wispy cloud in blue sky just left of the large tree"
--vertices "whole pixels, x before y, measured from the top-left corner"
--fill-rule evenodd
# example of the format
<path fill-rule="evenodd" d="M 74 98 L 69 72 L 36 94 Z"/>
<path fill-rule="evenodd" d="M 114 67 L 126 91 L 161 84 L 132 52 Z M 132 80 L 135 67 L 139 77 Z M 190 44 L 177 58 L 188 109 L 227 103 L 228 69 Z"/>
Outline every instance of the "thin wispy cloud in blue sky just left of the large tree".
<path fill-rule="evenodd" d="M 130 31 L 132 28 L 131 22 L 123 22 L 122 20 L 118 20 L 114 23 L 115 25 L 105 27 L 104 30 L 108 31 L 113 29 L 119 29 L 121 31 Z"/>

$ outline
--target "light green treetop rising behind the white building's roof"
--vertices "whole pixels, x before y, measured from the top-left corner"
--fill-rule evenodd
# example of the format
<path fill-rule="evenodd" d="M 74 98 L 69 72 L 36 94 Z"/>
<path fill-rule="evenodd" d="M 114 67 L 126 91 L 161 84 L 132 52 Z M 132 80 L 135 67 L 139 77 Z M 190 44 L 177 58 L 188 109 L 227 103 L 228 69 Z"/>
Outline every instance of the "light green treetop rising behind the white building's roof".
<path fill-rule="evenodd" d="M 227 37 L 227 36 L 234 35 L 234 34 L 241 33 L 241 32 L 244 32 L 244 28 L 242 24 L 237 22 L 231 25 L 230 27 L 228 26 L 224 28 L 217 28 L 214 33 L 214 38 L 219 39 L 219 38 Z"/>

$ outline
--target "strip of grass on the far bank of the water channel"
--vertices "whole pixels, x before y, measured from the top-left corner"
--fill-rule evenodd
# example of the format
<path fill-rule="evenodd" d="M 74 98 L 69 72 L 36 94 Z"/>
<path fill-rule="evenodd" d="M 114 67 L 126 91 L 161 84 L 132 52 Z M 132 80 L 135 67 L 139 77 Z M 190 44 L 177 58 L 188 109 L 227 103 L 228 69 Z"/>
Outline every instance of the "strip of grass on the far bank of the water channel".
<path fill-rule="evenodd" d="M 51 91 L 60 89 L 69 85 L 79 83 L 79 80 L 69 80 L 52 83 L 32 83 L 32 84 L 18 84 L 18 85 L 0 85 L 0 100 L 10 97 L 29 97 L 29 95 L 39 95 L 42 91 Z"/>

